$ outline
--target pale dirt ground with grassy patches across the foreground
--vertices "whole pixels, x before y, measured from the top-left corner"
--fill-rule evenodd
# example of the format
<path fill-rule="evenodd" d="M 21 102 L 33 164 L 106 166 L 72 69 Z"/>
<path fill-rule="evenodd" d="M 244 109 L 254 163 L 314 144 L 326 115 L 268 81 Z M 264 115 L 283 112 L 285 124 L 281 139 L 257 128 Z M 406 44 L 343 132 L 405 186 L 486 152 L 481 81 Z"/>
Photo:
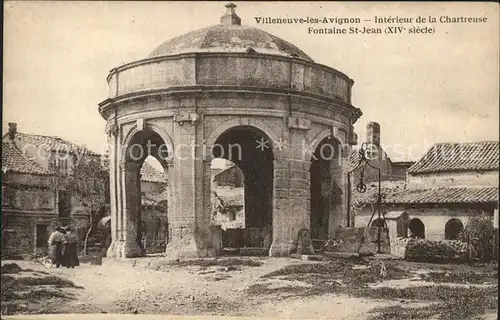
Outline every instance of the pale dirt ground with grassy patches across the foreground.
<path fill-rule="evenodd" d="M 15 263 L 15 267 L 7 266 Z M 370 258 L 2 261 L 2 315 L 170 314 L 281 319 L 496 319 L 493 265 Z"/>

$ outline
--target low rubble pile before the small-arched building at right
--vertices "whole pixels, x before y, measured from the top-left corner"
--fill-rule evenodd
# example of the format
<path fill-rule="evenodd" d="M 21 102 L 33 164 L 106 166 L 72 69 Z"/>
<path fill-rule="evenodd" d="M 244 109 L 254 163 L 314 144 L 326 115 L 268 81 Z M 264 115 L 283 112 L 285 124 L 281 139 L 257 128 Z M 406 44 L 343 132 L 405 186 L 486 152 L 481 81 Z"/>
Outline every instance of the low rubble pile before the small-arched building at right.
<path fill-rule="evenodd" d="M 410 239 L 404 259 L 416 262 L 459 262 L 467 259 L 467 243 L 458 240 Z"/>

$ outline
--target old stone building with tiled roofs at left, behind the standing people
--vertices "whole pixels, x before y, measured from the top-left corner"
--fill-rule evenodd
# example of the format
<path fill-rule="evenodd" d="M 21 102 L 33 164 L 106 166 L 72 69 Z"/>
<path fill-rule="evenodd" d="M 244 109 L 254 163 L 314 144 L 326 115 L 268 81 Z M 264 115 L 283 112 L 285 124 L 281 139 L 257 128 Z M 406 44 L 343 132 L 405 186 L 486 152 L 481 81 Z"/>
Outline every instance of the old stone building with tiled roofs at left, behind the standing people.
<path fill-rule="evenodd" d="M 98 157 L 69 141 L 18 132 L 17 124 L 9 124 L 2 138 L 2 248 L 7 254 L 41 254 L 57 224 L 72 225 L 84 237 L 90 208 L 57 183 L 84 155 Z M 100 197 L 104 204 L 106 195 Z"/>

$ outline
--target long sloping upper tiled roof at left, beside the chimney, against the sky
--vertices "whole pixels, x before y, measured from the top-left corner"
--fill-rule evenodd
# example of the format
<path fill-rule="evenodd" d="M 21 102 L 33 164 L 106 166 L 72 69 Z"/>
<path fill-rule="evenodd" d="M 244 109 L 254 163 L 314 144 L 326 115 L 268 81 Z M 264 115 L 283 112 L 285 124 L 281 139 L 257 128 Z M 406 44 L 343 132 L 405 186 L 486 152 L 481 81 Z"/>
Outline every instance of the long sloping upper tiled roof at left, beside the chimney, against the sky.
<path fill-rule="evenodd" d="M 97 155 L 95 152 L 69 142 L 67 140 L 61 139 L 59 137 L 52 136 L 42 136 L 36 134 L 28 134 L 17 132 L 15 135 L 15 140 L 20 140 L 24 144 L 31 144 L 35 147 L 41 147 L 45 150 L 50 151 L 63 151 L 72 154 L 88 154 L 88 155 Z"/>

